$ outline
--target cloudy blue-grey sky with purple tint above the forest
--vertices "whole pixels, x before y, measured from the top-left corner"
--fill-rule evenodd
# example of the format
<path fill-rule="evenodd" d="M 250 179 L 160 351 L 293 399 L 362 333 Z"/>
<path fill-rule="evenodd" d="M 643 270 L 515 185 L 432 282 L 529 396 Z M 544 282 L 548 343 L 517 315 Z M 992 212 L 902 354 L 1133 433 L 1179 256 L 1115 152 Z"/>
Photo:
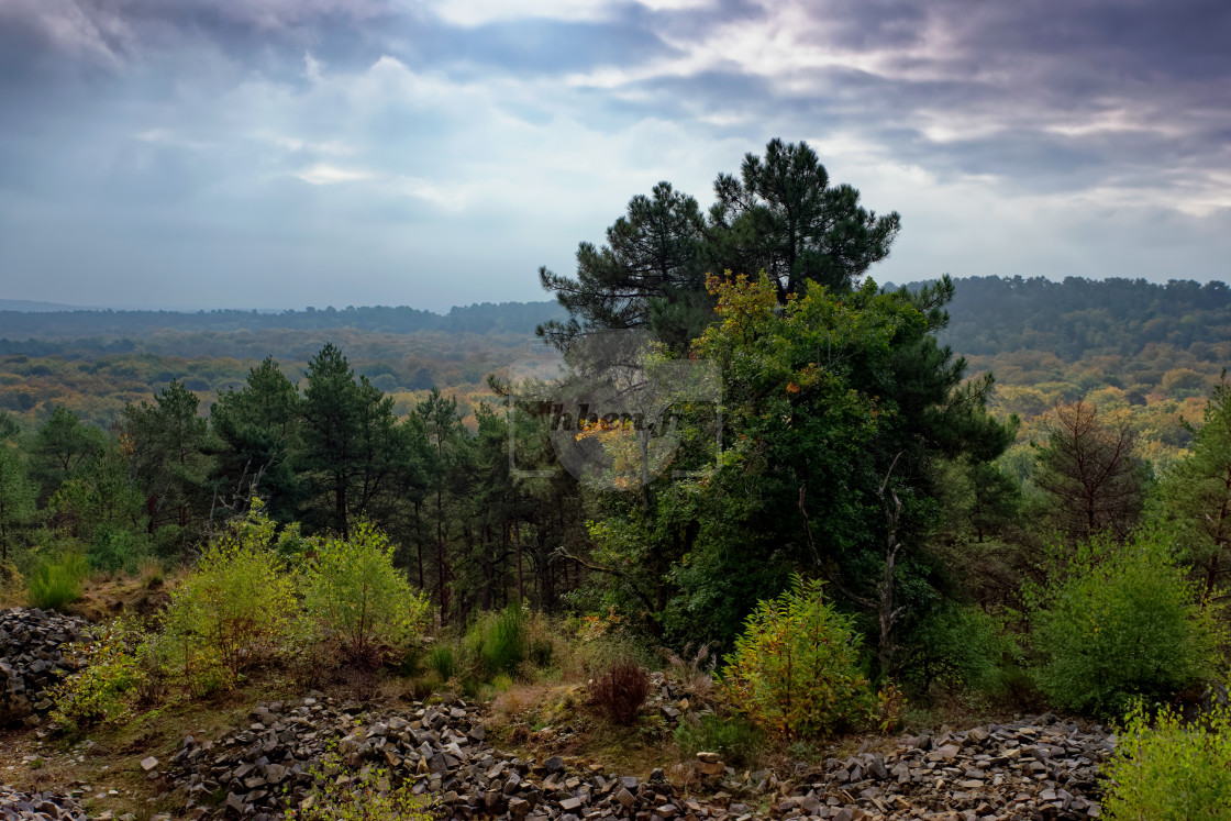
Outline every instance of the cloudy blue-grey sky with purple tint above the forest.
<path fill-rule="evenodd" d="M 1231 278 L 1226 0 L 0 0 L 0 298 L 548 298 L 774 137 L 869 274 Z"/>

